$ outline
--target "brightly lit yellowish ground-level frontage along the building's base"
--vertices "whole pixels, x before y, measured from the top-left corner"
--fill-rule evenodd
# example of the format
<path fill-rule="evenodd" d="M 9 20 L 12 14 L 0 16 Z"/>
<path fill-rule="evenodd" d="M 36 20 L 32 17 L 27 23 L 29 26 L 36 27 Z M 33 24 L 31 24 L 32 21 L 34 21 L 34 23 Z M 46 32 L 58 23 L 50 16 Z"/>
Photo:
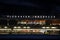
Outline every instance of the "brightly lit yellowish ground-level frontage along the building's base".
<path fill-rule="evenodd" d="M 0 34 L 47 34 L 60 35 L 60 29 L 0 29 Z"/>

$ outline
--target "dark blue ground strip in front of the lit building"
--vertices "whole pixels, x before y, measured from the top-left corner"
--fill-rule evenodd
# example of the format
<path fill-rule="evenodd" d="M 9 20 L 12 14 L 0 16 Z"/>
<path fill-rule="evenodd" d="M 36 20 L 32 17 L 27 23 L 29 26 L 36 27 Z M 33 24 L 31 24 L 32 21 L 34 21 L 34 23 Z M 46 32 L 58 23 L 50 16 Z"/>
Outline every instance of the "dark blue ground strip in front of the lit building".
<path fill-rule="evenodd" d="M 6 34 L 0 35 L 0 39 L 60 39 L 60 35 L 20 35 L 20 34 Z"/>

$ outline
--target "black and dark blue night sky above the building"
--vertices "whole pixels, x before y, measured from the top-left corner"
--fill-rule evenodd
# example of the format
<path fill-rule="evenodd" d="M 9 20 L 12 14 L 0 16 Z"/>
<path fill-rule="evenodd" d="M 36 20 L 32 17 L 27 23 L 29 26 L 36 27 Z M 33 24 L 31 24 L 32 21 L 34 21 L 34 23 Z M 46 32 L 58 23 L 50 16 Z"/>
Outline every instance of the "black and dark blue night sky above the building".
<path fill-rule="evenodd" d="M 53 3 L 53 1 L 0 0 L 0 5 L 1 14 L 55 15 L 60 13 L 60 6 L 56 6 L 56 3 Z"/>

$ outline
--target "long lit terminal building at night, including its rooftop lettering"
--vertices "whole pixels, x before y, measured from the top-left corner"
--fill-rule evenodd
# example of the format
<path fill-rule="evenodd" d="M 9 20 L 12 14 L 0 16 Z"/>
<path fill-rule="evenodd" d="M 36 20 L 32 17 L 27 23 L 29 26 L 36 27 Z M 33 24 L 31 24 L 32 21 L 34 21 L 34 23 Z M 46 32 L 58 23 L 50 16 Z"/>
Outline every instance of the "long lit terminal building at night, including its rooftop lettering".
<path fill-rule="evenodd" d="M 0 34 L 60 35 L 60 19 L 46 15 L 1 15 Z"/>

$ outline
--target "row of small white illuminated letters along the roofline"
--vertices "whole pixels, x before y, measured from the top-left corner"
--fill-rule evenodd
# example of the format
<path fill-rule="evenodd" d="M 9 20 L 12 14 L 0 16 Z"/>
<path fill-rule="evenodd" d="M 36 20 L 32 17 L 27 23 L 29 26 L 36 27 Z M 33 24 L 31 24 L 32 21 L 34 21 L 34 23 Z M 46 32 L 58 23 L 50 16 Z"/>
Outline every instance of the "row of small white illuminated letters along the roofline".
<path fill-rule="evenodd" d="M 7 18 L 55 18 L 55 16 L 6 16 Z"/>

